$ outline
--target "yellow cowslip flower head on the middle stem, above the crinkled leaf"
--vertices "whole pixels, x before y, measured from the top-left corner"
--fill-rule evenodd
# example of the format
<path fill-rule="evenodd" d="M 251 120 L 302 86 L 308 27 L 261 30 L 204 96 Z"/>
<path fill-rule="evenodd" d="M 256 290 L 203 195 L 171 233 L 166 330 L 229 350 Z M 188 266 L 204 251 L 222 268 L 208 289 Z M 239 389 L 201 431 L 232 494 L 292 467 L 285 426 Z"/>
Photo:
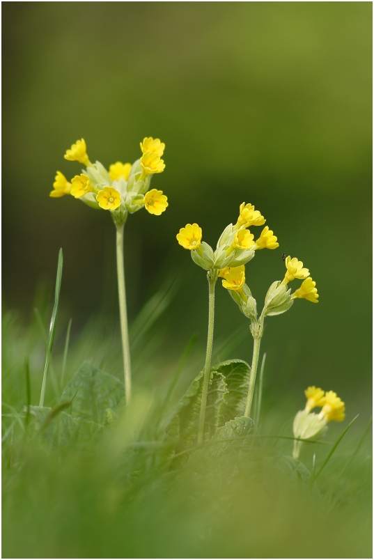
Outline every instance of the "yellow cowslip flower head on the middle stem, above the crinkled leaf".
<path fill-rule="evenodd" d="M 239 208 L 239 217 L 235 225 L 229 224 L 221 234 L 217 242 L 217 248 L 202 241 L 203 231 L 198 224 L 187 224 L 180 228 L 177 234 L 178 243 L 185 249 L 191 251 L 194 262 L 205 270 L 220 270 L 227 267 L 242 267 L 254 258 L 256 249 L 276 249 L 279 243 L 273 232 L 266 226 L 255 241 L 254 234 L 249 231 L 250 226 L 262 226 L 265 218 L 251 204 L 242 203 Z M 236 286 L 235 283 L 227 281 L 225 287 L 228 289 Z"/>

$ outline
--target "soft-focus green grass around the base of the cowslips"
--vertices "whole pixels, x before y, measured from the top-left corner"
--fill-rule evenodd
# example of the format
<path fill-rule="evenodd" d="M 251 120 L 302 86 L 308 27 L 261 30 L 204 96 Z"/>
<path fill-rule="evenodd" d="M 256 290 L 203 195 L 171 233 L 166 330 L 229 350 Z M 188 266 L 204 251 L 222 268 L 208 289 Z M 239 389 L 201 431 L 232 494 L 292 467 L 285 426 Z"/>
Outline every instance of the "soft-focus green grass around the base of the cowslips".
<path fill-rule="evenodd" d="M 121 380 L 118 322 L 96 317 L 70 332 L 74 323 L 60 310 L 45 396 L 54 411 L 38 423 L 25 405 L 39 401 L 46 356 L 40 322 L 49 324 L 49 309 L 40 306 L 29 325 L 13 311 L 4 314 L 3 557 L 371 557 L 367 417 L 353 423 L 329 458 L 352 420 L 348 410 L 325 444 L 304 444 L 304 465 L 295 468 L 297 404 L 278 396 L 269 407 L 264 383 L 262 437 L 242 447 L 226 443 L 230 451 L 221 454 L 219 445 L 205 444 L 183 451 L 189 460 L 182 467 L 167 467 L 164 428 L 204 363 L 194 332 L 181 355 L 165 353 L 170 333 L 162 313 L 176 293 L 164 286 L 134 322 L 132 405 L 117 407 L 118 421 L 98 437 L 68 442 L 63 385 L 87 359 Z M 235 356 L 238 341 L 216 341 L 216 357 Z"/>

